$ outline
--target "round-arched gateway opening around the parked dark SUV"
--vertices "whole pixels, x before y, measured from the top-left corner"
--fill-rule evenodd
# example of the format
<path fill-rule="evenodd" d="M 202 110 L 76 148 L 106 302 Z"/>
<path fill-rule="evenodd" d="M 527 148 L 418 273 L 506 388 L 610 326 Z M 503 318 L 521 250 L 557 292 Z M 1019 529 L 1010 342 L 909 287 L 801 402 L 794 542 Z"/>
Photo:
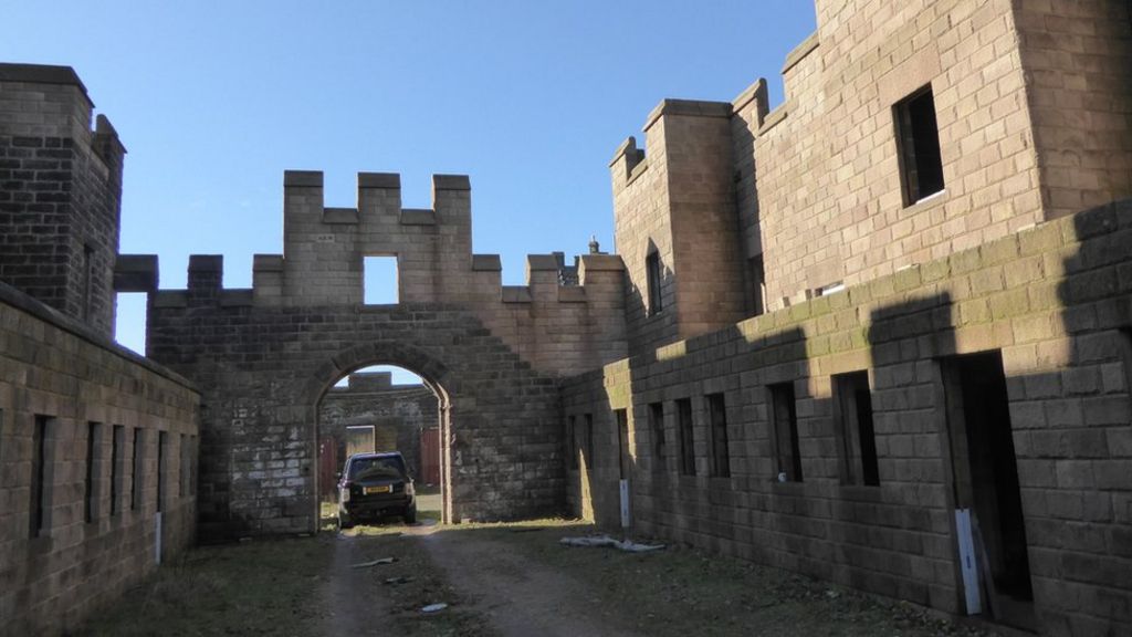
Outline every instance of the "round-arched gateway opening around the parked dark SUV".
<path fill-rule="evenodd" d="M 349 473 L 350 456 L 392 451 L 401 453 L 412 478 L 417 519 L 439 521 L 444 509 L 440 441 L 446 414 L 445 393 L 404 367 L 362 367 L 328 388 L 317 408 L 320 528 L 337 523 L 338 483 L 343 473 Z"/>

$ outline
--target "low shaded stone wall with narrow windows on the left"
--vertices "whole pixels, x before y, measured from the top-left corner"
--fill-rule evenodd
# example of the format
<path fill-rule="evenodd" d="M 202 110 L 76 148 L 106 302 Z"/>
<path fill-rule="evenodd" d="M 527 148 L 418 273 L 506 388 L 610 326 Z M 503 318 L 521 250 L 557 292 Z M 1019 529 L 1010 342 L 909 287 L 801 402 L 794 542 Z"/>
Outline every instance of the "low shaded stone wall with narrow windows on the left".
<path fill-rule="evenodd" d="M 157 567 L 158 542 L 163 560 L 192 544 L 199 400 L 0 284 L 0 635 L 72 630 Z"/>

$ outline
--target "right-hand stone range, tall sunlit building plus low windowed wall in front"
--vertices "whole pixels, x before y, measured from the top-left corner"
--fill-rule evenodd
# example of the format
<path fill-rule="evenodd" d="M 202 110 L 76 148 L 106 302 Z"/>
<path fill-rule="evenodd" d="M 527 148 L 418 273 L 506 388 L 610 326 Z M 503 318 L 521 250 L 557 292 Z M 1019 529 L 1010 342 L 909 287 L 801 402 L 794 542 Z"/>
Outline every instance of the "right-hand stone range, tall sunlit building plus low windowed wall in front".
<path fill-rule="evenodd" d="M 1127 5 L 818 0 L 817 18 L 781 105 L 763 80 L 666 100 L 644 148 L 615 153 L 631 357 L 565 383 L 573 510 L 619 524 L 627 478 L 643 533 L 950 612 L 978 589 L 1045 634 L 1132 630 Z M 925 93 L 943 184 L 910 201 L 898 120 Z M 838 393 L 861 382 L 869 484 Z M 968 444 L 968 421 L 1005 441 Z M 961 579 L 957 509 L 1007 593 Z"/>

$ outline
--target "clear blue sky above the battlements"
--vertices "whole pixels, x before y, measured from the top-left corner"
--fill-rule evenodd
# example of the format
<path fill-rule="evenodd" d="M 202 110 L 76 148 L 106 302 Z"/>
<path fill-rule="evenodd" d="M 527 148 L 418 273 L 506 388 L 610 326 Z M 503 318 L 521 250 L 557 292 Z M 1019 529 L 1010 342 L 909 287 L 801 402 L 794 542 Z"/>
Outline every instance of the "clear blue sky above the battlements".
<path fill-rule="evenodd" d="M 283 171 L 325 172 L 326 205 L 359 171 L 472 181 L 473 247 L 523 283 L 526 254 L 612 247 L 608 162 L 663 97 L 730 101 L 758 77 L 781 101 L 808 0 L 0 1 L 0 60 L 75 67 L 129 154 L 123 253 L 157 254 L 182 288 L 189 254 L 282 252 Z M 139 348 L 139 304 L 120 340 Z"/>

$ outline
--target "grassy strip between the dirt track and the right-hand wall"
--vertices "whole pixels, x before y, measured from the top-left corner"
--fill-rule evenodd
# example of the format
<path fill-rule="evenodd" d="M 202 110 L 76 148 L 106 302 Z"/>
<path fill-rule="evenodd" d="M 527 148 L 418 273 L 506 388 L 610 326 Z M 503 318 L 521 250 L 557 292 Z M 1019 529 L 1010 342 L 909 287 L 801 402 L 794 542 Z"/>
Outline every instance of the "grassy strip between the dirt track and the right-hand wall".
<path fill-rule="evenodd" d="M 593 592 L 594 612 L 626 617 L 644 635 L 936 637 L 993 635 L 926 609 L 835 587 L 743 560 L 668 546 L 653 553 L 565 546 L 559 540 L 598 529 L 580 520 L 461 525 L 506 543 L 508 551 L 569 575 Z M 538 529 L 538 530 L 533 530 Z M 614 535 L 615 537 L 617 535 Z"/>

